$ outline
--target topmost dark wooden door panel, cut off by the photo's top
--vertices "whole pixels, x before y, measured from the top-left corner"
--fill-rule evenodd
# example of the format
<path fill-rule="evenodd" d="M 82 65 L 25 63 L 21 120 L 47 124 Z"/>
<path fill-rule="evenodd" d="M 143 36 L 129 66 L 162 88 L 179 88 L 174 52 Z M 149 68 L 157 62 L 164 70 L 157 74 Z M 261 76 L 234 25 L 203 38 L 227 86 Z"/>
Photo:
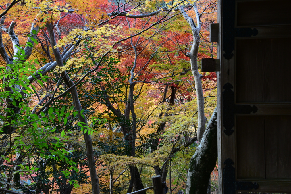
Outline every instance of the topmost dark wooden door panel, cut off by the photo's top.
<path fill-rule="evenodd" d="M 237 26 L 291 24 L 290 0 L 237 2 Z"/>

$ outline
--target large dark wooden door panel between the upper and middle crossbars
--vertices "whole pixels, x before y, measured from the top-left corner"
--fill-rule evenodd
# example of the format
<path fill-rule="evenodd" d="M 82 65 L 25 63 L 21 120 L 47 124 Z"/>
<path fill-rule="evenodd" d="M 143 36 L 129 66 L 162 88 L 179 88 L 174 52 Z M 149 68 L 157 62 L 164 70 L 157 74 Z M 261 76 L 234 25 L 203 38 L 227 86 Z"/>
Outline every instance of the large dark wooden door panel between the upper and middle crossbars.
<path fill-rule="evenodd" d="M 291 102 L 291 47 L 286 42 L 291 38 L 236 41 L 236 102 Z"/>

